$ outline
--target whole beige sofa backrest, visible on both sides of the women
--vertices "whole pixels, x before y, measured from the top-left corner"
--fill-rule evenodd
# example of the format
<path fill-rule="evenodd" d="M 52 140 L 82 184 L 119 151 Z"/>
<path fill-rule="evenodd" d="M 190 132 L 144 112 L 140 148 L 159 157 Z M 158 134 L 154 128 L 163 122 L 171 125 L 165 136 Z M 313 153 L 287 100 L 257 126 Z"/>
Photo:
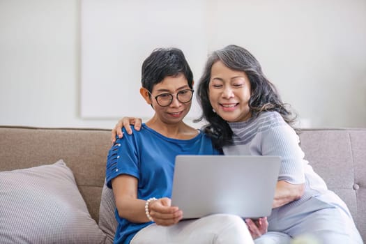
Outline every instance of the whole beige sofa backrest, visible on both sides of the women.
<path fill-rule="evenodd" d="M 305 129 L 305 159 L 349 206 L 366 240 L 366 129 Z M 0 126 L 0 171 L 52 164 L 73 170 L 91 217 L 98 222 L 110 130 Z"/>

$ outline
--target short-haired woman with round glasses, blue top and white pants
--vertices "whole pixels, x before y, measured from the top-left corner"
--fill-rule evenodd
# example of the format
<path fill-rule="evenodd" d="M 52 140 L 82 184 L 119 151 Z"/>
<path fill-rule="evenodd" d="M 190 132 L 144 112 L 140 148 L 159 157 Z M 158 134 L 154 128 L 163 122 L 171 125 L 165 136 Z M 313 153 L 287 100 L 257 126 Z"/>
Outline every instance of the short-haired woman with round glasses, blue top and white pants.
<path fill-rule="evenodd" d="M 140 93 L 155 114 L 139 133 L 117 139 L 108 153 L 107 186 L 118 222 L 114 243 L 253 243 L 251 234 L 266 232 L 266 219 L 250 232 L 235 215 L 180 222 L 184 213 L 171 206 L 176 155 L 220 154 L 209 137 L 183 122 L 192 87 L 192 71 L 179 49 L 155 49 L 142 64 Z"/>

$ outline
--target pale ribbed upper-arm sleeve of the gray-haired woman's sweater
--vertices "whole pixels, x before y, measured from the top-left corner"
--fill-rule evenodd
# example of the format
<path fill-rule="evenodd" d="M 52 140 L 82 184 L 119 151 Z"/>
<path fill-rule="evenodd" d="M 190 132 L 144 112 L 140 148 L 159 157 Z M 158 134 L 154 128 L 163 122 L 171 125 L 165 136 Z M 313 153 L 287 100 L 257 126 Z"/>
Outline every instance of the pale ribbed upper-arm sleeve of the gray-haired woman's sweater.
<path fill-rule="evenodd" d="M 304 183 L 304 153 L 299 146 L 295 130 L 284 122 L 271 126 L 261 134 L 262 155 L 276 155 L 282 158 L 278 179 L 292 184 Z"/>

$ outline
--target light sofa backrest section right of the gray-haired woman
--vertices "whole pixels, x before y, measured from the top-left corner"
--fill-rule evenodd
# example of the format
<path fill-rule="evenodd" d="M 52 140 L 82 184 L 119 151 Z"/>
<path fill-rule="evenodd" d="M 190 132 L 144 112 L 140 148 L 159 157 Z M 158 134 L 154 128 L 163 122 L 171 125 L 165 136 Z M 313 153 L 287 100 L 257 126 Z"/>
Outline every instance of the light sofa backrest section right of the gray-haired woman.
<path fill-rule="evenodd" d="M 346 202 L 366 240 L 366 129 L 307 129 L 300 146 L 314 171 Z"/>

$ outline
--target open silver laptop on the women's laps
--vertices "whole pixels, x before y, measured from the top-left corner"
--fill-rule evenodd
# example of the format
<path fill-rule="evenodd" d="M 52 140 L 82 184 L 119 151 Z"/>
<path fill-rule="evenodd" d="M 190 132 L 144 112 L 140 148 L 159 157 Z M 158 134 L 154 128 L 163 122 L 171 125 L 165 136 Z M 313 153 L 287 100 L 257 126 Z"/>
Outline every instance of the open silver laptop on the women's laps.
<path fill-rule="evenodd" d="M 268 216 L 280 161 L 276 156 L 178 155 L 171 205 L 183 211 L 183 219 L 214 213 Z"/>

